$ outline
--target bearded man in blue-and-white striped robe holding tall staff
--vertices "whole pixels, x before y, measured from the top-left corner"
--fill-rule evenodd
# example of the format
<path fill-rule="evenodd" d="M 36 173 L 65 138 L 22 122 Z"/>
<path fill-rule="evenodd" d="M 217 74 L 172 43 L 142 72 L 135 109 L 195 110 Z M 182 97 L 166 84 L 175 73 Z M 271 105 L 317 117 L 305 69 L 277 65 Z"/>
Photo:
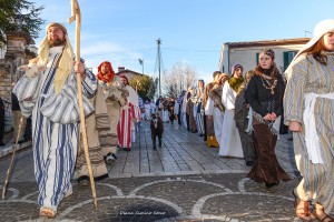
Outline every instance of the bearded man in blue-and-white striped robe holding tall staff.
<path fill-rule="evenodd" d="M 13 89 L 24 117 L 32 115 L 32 150 L 38 183 L 40 215 L 55 218 L 61 200 L 71 194 L 80 121 L 77 75 L 81 74 L 84 110 L 94 108 L 88 98 L 96 91 L 96 78 L 73 53 L 66 28 L 47 26 L 47 37 L 33 61 L 46 70 L 22 77 Z M 75 65 L 73 65 L 75 64 Z"/>

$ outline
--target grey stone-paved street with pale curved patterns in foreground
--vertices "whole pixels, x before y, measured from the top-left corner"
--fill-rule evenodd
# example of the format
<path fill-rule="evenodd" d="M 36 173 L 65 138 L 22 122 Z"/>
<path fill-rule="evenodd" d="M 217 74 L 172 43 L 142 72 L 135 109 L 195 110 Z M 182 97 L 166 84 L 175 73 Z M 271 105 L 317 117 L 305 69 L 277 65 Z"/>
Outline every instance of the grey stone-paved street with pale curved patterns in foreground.
<path fill-rule="evenodd" d="M 55 221 L 298 221 L 291 191 L 297 184 L 289 134 L 281 135 L 277 157 L 291 181 L 266 189 L 246 178 L 243 159 L 220 158 L 203 138 L 165 123 L 163 148 L 153 150 L 148 122 L 130 152 L 119 150 L 108 165 L 109 179 L 96 184 L 98 210 L 89 186 L 73 181 L 73 193 L 58 209 Z M 0 159 L 0 188 L 11 155 Z M 39 218 L 32 152 L 16 158 L 0 221 L 52 221 Z"/>

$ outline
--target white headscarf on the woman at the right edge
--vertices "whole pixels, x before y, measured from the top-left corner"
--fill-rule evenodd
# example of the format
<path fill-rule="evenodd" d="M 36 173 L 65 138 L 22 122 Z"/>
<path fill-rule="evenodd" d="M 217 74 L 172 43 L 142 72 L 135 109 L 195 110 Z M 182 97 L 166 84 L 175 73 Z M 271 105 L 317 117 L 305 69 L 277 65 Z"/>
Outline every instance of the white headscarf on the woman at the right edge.
<path fill-rule="evenodd" d="M 334 31 L 334 19 L 326 19 L 318 22 L 313 31 L 313 38 L 298 51 L 295 56 L 288 68 L 286 69 L 285 73 L 289 73 L 293 64 L 295 63 L 298 56 L 301 56 L 305 50 L 313 47 L 325 33 Z"/>

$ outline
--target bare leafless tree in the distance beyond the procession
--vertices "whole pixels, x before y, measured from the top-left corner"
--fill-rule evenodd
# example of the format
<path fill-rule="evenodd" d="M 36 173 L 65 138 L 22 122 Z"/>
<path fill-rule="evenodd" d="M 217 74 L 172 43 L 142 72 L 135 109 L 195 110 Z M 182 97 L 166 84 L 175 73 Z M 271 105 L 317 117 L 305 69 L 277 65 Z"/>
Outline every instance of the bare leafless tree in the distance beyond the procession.
<path fill-rule="evenodd" d="M 196 69 L 185 62 L 177 62 L 171 71 L 164 72 L 163 87 L 166 95 L 176 98 L 183 90 L 194 87 L 196 83 Z"/>

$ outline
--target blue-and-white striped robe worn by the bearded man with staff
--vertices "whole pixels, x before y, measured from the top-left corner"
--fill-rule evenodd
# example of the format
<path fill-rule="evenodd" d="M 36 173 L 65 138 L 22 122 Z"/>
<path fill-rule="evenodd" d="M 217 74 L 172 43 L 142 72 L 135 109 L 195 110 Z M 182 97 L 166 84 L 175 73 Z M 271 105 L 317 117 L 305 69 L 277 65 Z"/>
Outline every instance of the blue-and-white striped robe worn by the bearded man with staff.
<path fill-rule="evenodd" d="M 48 69 L 39 77 L 21 78 L 13 89 L 26 117 L 32 114 L 35 176 L 40 206 L 57 212 L 61 200 L 72 192 L 71 176 L 78 148 L 78 103 L 76 73 L 68 75 L 59 94 L 55 93 L 55 73 L 62 47 L 50 49 Z M 92 111 L 87 98 L 96 91 L 96 78 L 86 70 L 82 80 L 85 113 Z"/>

